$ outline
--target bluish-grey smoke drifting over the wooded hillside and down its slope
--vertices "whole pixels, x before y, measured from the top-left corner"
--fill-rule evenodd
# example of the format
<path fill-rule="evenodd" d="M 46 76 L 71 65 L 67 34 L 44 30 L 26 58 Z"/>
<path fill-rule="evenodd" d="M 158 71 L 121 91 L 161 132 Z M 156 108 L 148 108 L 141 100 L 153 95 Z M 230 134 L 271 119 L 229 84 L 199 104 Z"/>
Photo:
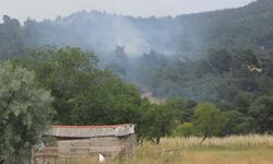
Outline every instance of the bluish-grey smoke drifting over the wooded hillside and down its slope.
<path fill-rule="evenodd" d="M 142 19 L 82 11 L 43 22 L 28 20 L 24 26 L 33 34 L 33 44 L 95 51 L 99 68 L 108 68 L 140 90 L 149 89 L 152 95 L 165 97 L 193 95 L 191 89 L 180 86 L 176 75 L 168 78 L 169 73 L 162 70 L 177 72 L 171 66 L 185 65 L 201 49 L 197 32 L 202 23 L 194 16 Z"/>

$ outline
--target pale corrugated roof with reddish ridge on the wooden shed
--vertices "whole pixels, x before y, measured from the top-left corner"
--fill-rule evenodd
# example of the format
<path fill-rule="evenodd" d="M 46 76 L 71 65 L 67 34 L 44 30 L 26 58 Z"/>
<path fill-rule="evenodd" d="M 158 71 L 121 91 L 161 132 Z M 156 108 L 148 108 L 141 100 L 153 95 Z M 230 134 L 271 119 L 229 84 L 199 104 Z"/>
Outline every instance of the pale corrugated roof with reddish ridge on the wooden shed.
<path fill-rule="evenodd" d="M 134 133 L 135 125 L 111 126 L 52 126 L 45 136 L 59 138 L 122 137 Z"/>

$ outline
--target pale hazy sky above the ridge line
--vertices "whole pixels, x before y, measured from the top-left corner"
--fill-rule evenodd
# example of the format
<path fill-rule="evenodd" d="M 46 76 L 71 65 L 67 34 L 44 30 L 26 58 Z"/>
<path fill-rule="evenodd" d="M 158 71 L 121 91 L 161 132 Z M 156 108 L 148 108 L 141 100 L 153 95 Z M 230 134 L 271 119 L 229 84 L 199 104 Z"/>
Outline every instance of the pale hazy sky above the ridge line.
<path fill-rule="evenodd" d="M 164 16 L 237 8 L 253 0 L 0 0 L 0 15 L 20 21 L 67 16 L 76 11 L 106 11 L 133 16 Z"/>

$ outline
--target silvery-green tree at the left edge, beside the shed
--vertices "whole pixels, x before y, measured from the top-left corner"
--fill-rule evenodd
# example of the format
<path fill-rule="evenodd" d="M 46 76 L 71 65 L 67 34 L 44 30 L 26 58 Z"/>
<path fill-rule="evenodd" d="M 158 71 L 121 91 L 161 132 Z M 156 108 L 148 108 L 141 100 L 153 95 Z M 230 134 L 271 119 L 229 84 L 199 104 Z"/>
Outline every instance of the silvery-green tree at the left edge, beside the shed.
<path fill-rule="evenodd" d="M 51 102 L 50 92 L 37 87 L 33 71 L 10 61 L 0 65 L 0 161 L 25 162 L 50 121 Z"/>

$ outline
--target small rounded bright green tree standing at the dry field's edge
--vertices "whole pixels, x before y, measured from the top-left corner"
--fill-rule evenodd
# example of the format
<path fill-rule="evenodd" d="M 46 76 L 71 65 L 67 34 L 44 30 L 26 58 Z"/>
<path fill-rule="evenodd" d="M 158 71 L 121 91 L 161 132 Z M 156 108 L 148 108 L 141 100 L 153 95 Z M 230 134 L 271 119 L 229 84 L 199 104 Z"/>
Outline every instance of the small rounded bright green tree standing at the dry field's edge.
<path fill-rule="evenodd" d="M 203 103 L 197 106 L 193 124 L 204 138 L 201 143 L 210 136 L 217 134 L 226 125 L 227 118 L 221 110 L 211 103 Z"/>

